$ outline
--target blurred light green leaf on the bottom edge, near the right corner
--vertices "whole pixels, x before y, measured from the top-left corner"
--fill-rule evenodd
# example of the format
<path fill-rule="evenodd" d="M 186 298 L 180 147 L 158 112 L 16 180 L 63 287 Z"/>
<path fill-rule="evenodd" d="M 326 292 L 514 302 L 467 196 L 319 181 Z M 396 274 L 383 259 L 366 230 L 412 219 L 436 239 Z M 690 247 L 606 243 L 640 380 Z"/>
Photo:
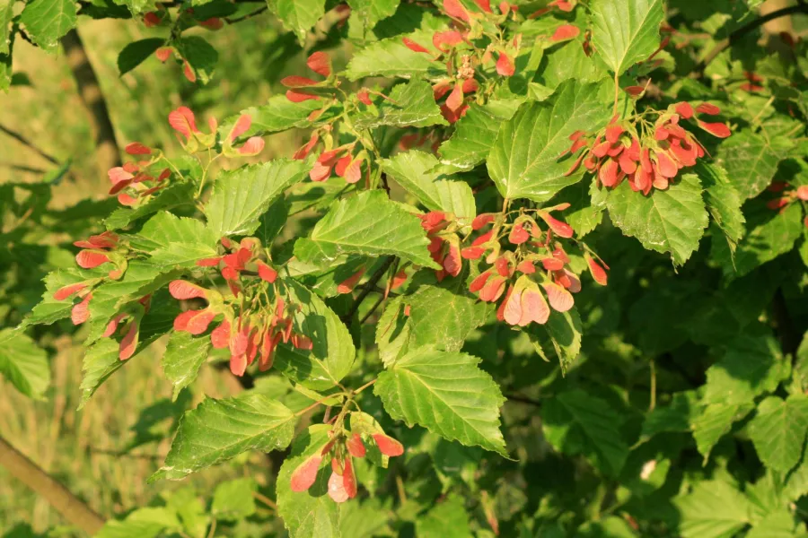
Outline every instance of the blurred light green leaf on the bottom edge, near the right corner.
<path fill-rule="evenodd" d="M 726 482 L 698 482 L 674 504 L 682 538 L 730 538 L 750 523 L 749 500 Z"/>

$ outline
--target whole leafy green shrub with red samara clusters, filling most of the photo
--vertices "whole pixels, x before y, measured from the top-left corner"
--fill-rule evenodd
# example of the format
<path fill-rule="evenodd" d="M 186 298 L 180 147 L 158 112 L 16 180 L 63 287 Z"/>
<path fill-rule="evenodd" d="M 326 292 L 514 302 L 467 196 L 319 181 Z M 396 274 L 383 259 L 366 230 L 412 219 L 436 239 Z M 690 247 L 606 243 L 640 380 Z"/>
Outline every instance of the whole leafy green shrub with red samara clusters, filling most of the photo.
<path fill-rule="evenodd" d="M 266 102 L 173 110 L 184 153 L 128 143 L 109 203 L 0 186 L 0 371 L 42 397 L 34 327 L 68 318 L 83 402 L 161 338 L 175 399 L 224 365 L 245 390 L 186 411 L 151 480 L 280 451 L 292 536 L 808 535 L 808 45 L 761 47 L 759 4 L 0 0 L 4 90 L 15 39 L 78 15 L 145 24 L 120 73 L 189 84 L 224 25 L 305 48 Z M 20 244 L 93 222 L 16 319 Z M 283 534 L 255 489 L 99 535 Z"/>

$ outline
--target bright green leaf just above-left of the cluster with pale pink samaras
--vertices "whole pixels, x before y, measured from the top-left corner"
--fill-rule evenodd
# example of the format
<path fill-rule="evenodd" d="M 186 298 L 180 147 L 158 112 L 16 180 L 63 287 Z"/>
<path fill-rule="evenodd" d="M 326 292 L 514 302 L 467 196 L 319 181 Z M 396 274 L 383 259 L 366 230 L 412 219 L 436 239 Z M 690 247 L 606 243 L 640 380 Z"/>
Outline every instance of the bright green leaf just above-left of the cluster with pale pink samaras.
<path fill-rule="evenodd" d="M 468 221 L 477 216 L 471 187 L 431 171 L 439 165 L 435 155 L 411 150 L 382 161 L 382 171 L 431 211 L 453 213 Z"/>

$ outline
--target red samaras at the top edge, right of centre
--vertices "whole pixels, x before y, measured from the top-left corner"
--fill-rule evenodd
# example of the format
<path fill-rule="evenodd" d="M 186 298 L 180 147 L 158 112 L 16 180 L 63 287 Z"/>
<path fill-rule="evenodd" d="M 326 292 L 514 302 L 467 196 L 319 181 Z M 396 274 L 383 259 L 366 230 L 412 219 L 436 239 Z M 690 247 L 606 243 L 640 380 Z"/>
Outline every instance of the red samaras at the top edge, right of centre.
<path fill-rule="evenodd" d="M 516 11 L 516 5 L 504 1 L 499 4 L 499 14 L 491 9 L 490 0 L 475 0 L 482 13 L 472 13 L 461 4 L 460 0 L 444 0 L 444 12 L 454 20 L 455 29 L 436 31 L 432 36 L 432 45 L 436 50 L 430 50 L 417 43 L 413 39 L 403 38 L 404 45 L 413 52 L 423 53 L 430 56 L 436 64 L 444 62 L 444 56 L 453 48 L 462 43 L 470 43 L 471 24 L 481 17 L 492 15 L 495 19 L 505 18 Z M 565 4 L 566 5 L 566 4 Z M 580 33 L 580 30 L 571 24 L 562 24 L 549 38 L 551 42 L 573 39 Z M 513 76 L 516 72 L 514 57 L 518 53 L 522 42 L 522 36 L 517 35 L 511 43 L 500 47 L 489 46 L 482 57 L 482 65 L 489 65 L 493 62 L 493 53 L 496 53 L 496 73 L 501 76 Z M 472 65 L 471 56 L 461 56 L 461 65 L 446 65 L 446 70 L 450 76 L 435 82 L 433 92 L 435 102 L 440 105 L 441 114 L 450 124 L 455 123 L 463 117 L 469 109 L 467 97 L 479 89 L 478 82 L 474 79 L 475 66 Z M 443 103 L 441 99 L 446 97 Z"/>

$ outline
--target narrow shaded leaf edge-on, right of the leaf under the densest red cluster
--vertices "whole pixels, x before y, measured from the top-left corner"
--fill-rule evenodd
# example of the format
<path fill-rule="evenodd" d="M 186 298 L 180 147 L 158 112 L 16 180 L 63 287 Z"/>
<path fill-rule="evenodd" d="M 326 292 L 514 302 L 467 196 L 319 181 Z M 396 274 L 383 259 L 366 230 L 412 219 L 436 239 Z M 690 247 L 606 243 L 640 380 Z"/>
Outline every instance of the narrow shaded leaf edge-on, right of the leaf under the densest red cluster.
<path fill-rule="evenodd" d="M 746 222 L 741 212 L 741 195 L 733 187 L 726 170 L 720 166 L 698 161 L 693 171 L 704 187 L 707 211 L 734 247 L 743 237 L 743 224 Z"/>

